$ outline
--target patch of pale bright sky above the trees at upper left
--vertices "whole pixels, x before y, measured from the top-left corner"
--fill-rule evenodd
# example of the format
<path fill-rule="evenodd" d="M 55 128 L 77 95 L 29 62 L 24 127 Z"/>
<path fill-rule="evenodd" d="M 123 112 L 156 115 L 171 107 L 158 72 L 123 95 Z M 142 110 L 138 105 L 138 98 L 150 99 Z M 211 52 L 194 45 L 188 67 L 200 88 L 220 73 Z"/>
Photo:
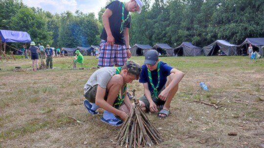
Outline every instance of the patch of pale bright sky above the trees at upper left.
<path fill-rule="evenodd" d="M 101 7 L 105 7 L 107 0 L 22 0 L 22 2 L 28 7 L 39 7 L 52 14 L 66 11 L 74 14 L 76 10 L 80 10 L 83 13 L 93 12 L 98 18 L 98 12 Z"/>

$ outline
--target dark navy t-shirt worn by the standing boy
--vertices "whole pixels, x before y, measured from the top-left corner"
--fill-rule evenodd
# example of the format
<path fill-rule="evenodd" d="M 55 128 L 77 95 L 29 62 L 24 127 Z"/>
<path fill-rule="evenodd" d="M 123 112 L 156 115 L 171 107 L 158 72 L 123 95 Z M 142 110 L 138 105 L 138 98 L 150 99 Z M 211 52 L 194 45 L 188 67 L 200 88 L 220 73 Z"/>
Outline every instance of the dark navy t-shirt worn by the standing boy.
<path fill-rule="evenodd" d="M 120 2 L 118 0 L 115 0 L 111 2 L 109 5 L 106 6 L 106 8 L 110 9 L 112 11 L 112 16 L 109 18 L 109 24 L 112 36 L 114 37 L 114 43 L 118 45 L 125 45 L 125 37 L 124 32 L 125 29 L 120 33 L 120 27 L 122 23 L 122 6 L 123 2 Z M 124 9 L 124 19 L 127 19 L 129 12 Z M 130 22 L 131 22 L 131 16 L 125 21 L 124 28 L 130 28 Z M 101 39 L 107 40 L 107 33 L 105 30 L 105 27 L 101 34 Z"/>

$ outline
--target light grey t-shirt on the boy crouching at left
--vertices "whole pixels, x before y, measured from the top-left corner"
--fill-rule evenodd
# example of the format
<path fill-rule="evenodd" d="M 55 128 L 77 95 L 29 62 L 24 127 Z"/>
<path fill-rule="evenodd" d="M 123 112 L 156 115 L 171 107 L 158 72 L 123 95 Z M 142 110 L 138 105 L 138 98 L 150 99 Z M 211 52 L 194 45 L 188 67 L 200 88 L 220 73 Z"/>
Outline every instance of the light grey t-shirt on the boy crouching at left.
<path fill-rule="evenodd" d="M 108 82 L 110 81 L 111 77 L 115 75 L 115 73 L 116 73 L 115 67 L 103 67 L 95 71 L 90 76 L 90 78 L 88 79 L 88 81 L 84 86 L 84 94 L 86 94 L 86 92 L 88 92 L 88 90 L 91 87 L 97 84 L 102 88 L 106 89 Z"/>

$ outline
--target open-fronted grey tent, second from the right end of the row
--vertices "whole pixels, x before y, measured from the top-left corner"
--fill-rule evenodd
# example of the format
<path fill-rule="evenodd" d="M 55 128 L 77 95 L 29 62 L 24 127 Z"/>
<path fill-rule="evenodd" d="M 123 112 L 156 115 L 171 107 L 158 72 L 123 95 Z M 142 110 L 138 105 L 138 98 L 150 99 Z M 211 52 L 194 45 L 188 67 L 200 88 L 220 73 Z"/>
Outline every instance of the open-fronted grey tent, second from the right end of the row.
<path fill-rule="evenodd" d="M 230 44 L 226 40 L 216 40 L 202 49 L 204 56 L 218 56 L 219 50 L 221 50 L 226 56 L 238 56 L 237 45 Z"/>

